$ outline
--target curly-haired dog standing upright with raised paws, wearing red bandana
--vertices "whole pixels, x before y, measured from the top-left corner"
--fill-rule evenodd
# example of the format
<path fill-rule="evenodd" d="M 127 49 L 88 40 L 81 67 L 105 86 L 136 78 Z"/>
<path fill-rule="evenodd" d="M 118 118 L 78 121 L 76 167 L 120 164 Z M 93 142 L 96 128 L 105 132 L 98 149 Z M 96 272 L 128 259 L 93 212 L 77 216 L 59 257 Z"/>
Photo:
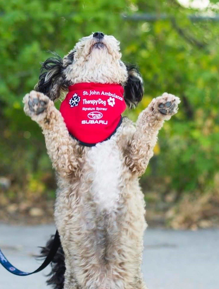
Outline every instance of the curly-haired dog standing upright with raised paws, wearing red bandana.
<path fill-rule="evenodd" d="M 100 89 L 89 89 L 91 84 Z M 104 90 L 105 84 L 115 91 Z M 83 91 L 83 85 L 87 90 Z M 70 119 L 54 106 L 68 87 L 65 105 Z M 80 93 L 71 94 L 75 87 Z M 139 177 L 153 156 L 158 131 L 177 112 L 180 99 L 164 93 L 139 114 L 136 124 L 121 118 L 123 102 L 133 108 L 143 93 L 139 69 L 121 61 L 119 41 L 95 32 L 80 39 L 63 59 L 57 54 L 47 59 L 35 91 L 23 99 L 26 115 L 42 128 L 57 176 L 54 217 L 62 248 L 53 259 L 47 281 L 53 288 L 146 288 L 140 267 L 147 224 Z M 79 112 L 79 101 L 85 111 Z M 118 110 L 114 109 L 117 104 Z M 108 120 L 100 122 L 104 110 L 112 123 L 114 117 L 119 121 L 110 135 L 104 134 Z M 83 120 L 84 115 L 80 118 L 85 112 L 91 113 L 91 120 Z M 76 137 L 77 133 L 85 139 Z M 97 140 L 94 144 L 93 139 Z M 53 237 L 41 256 L 47 256 L 52 241 Z"/>

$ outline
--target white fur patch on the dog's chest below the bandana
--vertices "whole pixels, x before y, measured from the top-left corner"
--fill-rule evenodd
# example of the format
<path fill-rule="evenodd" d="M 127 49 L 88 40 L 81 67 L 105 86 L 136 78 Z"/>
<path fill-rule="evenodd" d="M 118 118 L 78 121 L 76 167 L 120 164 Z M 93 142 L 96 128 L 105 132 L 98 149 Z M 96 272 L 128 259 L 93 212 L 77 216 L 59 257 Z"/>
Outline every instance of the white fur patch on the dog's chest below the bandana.
<path fill-rule="evenodd" d="M 114 141 L 108 140 L 92 147 L 88 153 L 90 193 L 99 209 L 116 208 L 120 198 L 119 180 L 122 160 Z"/>

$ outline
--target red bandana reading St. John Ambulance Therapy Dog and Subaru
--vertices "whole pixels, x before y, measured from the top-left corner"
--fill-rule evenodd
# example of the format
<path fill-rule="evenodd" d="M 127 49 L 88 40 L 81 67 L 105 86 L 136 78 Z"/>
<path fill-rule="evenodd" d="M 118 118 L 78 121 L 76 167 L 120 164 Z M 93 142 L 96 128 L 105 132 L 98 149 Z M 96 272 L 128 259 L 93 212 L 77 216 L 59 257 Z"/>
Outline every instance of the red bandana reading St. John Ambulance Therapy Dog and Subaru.
<path fill-rule="evenodd" d="M 60 112 L 70 134 L 85 144 L 108 139 L 126 109 L 120 84 L 77 83 L 61 103 Z"/>

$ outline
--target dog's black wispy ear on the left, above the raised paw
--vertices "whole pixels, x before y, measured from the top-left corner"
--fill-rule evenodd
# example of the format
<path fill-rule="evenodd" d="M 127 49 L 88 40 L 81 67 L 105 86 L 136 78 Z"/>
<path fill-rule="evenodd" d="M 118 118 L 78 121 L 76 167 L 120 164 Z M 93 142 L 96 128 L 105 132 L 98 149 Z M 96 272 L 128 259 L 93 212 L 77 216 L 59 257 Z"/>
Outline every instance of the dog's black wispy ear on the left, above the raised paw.
<path fill-rule="evenodd" d="M 44 93 L 54 101 L 60 97 L 61 89 L 67 89 L 68 84 L 65 80 L 64 69 L 66 66 L 63 63 L 63 59 L 58 54 L 53 54 L 53 57 L 42 63 L 39 81 L 35 90 Z"/>

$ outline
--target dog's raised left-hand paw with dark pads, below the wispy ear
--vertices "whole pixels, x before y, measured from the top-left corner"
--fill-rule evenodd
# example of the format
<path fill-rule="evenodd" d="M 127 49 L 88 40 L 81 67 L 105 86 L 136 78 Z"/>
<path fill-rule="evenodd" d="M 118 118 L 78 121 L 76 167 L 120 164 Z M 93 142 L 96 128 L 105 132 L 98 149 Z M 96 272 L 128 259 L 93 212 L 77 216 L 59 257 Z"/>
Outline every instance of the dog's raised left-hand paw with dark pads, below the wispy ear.
<path fill-rule="evenodd" d="M 25 103 L 24 111 L 26 114 L 39 115 L 47 108 L 49 98 L 43 93 L 32 90 L 29 94 L 25 95 L 23 102 Z"/>

